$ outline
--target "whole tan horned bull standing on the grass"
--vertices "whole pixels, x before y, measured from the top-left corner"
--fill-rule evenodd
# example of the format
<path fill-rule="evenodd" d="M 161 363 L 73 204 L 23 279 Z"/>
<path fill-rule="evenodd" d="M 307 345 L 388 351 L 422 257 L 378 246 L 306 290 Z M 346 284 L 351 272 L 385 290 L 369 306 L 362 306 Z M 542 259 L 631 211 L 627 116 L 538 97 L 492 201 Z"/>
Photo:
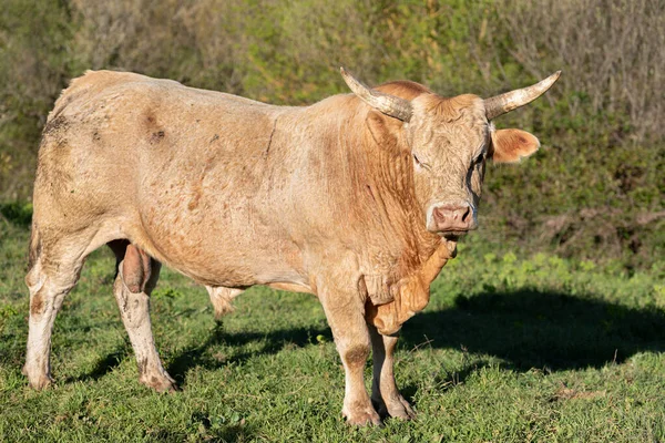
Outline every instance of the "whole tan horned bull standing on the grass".
<path fill-rule="evenodd" d="M 475 227 L 485 161 L 539 147 L 490 120 L 535 100 L 559 73 L 488 100 L 412 82 L 372 90 L 341 73 L 352 94 L 305 107 L 133 73 L 72 81 L 49 115 L 34 183 L 31 387 L 51 382 L 55 315 L 85 257 L 109 245 L 142 383 L 174 389 L 149 313 L 165 264 L 205 285 L 218 313 L 254 285 L 316 295 L 345 368 L 344 415 L 412 416 L 395 383 L 396 333 L 426 307 L 457 237 Z"/>

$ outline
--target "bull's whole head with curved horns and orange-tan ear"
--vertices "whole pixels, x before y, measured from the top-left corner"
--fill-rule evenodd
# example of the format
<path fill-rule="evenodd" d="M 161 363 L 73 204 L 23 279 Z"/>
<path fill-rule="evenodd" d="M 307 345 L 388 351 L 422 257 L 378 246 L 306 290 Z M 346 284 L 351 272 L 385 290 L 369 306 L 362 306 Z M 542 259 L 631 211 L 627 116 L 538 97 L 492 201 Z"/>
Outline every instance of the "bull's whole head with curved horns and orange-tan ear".
<path fill-rule="evenodd" d="M 402 83 L 409 93 L 400 95 L 411 96 L 405 99 L 370 89 L 341 68 L 344 80 L 356 95 L 400 124 L 400 138 L 413 157 L 416 197 L 426 215 L 427 229 L 447 237 L 478 226 L 477 208 L 488 159 L 515 163 L 540 146 L 530 133 L 495 130 L 490 121 L 538 99 L 560 74 L 484 100 L 471 94 L 446 99 L 424 86 Z"/>

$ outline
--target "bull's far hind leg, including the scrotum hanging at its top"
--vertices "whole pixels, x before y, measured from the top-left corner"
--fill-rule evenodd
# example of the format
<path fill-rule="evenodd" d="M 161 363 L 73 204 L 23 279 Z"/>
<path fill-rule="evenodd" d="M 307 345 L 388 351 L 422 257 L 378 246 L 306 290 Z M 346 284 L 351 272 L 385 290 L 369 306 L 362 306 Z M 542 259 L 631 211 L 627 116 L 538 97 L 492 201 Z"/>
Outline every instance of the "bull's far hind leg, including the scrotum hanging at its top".
<path fill-rule="evenodd" d="M 157 392 L 173 391 L 175 381 L 162 367 L 150 321 L 150 293 L 157 284 L 161 264 L 129 241 L 109 246 L 117 259 L 113 295 L 136 356 L 139 381 Z"/>

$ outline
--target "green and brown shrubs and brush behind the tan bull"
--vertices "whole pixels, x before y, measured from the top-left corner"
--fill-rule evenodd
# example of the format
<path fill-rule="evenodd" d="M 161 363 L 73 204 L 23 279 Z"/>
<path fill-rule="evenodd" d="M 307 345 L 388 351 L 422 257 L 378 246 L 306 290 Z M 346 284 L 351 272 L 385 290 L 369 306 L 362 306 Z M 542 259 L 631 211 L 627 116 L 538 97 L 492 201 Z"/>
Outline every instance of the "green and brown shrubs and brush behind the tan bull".
<path fill-rule="evenodd" d="M 562 69 L 500 119 L 544 148 L 493 167 L 481 235 L 531 250 L 648 267 L 665 253 L 665 3 L 658 0 L 4 0 L 0 200 L 28 200 L 41 127 L 86 69 L 178 80 L 260 101 L 380 83 L 492 95 Z"/>

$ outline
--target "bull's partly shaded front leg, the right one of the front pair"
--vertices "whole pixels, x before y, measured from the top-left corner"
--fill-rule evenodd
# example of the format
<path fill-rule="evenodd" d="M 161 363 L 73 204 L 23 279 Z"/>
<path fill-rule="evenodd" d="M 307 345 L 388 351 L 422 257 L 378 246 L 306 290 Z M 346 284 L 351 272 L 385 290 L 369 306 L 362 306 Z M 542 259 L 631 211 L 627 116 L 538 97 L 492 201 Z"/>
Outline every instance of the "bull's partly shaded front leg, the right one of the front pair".
<path fill-rule="evenodd" d="M 374 379 L 371 383 L 371 401 L 379 414 L 399 419 L 413 419 L 416 414 L 397 389 L 393 373 L 393 354 L 397 346 L 396 336 L 382 336 L 371 324 L 368 324 L 371 337 Z"/>

